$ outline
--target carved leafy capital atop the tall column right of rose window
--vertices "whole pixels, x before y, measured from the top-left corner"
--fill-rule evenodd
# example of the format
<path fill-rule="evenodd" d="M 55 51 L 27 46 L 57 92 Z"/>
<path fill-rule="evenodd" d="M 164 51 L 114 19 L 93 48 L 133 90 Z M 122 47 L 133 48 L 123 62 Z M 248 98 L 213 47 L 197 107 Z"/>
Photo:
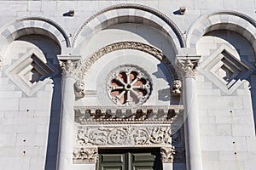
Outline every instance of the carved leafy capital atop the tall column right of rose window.
<path fill-rule="evenodd" d="M 177 56 L 176 64 L 183 77 L 194 77 L 201 56 Z"/>

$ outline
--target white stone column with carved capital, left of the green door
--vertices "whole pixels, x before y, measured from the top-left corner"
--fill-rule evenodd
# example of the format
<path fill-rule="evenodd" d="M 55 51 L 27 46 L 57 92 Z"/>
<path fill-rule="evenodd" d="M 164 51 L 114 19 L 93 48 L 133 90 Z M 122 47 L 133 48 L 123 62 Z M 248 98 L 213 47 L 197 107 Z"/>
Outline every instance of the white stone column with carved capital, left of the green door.
<path fill-rule="evenodd" d="M 75 101 L 74 83 L 78 75 L 79 61 L 61 61 L 62 76 L 62 105 L 60 133 L 58 142 L 57 169 L 70 170 L 73 165 L 73 141 L 75 139 L 74 110 Z"/>

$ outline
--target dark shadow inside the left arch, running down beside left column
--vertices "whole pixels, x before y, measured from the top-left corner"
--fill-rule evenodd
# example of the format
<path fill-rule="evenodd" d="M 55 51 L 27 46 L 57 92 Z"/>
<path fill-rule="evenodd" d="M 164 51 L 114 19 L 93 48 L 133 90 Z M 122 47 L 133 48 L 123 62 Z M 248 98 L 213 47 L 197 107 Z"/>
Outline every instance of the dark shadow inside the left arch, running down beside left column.
<path fill-rule="evenodd" d="M 46 147 L 44 170 L 55 170 L 58 151 L 59 126 L 61 115 L 61 68 L 57 54 L 61 54 L 61 48 L 57 42 L 49 37 L 41 35 L 28 35 L 19 38 L 20 41 L 31 42 L 42 50 L 48 65 L 54 65 L 59 72 L 50 77 L 53 80 L 51 108 L 49 113 L 49 132 Z M 49 48 L 50 47 L 50 48 Z"/>

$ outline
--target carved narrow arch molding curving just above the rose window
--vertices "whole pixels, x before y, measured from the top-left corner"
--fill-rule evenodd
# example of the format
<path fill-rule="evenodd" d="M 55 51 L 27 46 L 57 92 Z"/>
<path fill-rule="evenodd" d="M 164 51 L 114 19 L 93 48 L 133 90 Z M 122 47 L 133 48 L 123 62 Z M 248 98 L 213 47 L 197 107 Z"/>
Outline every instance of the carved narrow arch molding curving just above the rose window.
<path fill-rule="evenodd" d="M 94 54 L 90 55 L 88 59 L 84 59 L 84 62 L 82 62 L 83 64 L 81 67 L 82 72 L 85 75 L 86 72 L 90 69 L 91 65 L 93 65 L 97 59 L 100 59 L 105 54 L 123 49 L 139 50 L 154 56 L 156 59 L 159 59 L 161 63 L 166 65 L 166 68 L 168 69 L 170 75 L 172 76 L 172 80 L 178 79 L 177 72 L 175 71 L 175 68 L 172 66 L 172 63 L 169 61 L 169 59 L 166 58 L 166 55 L 163 54 L 159 49 L 142 42 L 115 42 L 109 44 L 108 46 L 100 48 Z"/>

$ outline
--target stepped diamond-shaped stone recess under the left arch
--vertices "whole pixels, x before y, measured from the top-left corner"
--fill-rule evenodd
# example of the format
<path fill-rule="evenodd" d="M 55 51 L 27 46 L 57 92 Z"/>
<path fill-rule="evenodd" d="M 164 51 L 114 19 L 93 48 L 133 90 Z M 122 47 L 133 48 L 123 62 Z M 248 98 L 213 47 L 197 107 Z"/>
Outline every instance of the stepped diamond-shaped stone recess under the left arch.
<path fill-rule="evenodd" d="M 53 65 L 49 67 L 46 64 L 44 54 L 38 48 L 32 48 L 9 66 L 5 73 L 26 95 L 31 96 L 57 71 Z"/>

